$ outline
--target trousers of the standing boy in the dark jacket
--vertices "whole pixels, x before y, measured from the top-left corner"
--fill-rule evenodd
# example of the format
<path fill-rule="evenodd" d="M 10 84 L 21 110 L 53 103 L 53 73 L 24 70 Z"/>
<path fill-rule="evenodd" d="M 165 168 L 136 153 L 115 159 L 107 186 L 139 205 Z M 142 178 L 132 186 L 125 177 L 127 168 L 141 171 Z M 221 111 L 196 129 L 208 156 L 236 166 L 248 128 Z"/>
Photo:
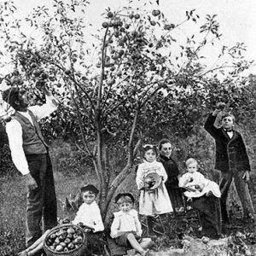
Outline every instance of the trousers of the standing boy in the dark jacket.
<path fill-rule="evenodd" d="M 243 210 L 243 215 L 246 218 L 249 213 L 254 213 L 253 202 L 251 195 L 249 193 L 248 184 L 243 180 L 244 172 L 221 172 L 219 189 L 221 192 L 221 212 L 222 218 L 225 222 L 228 221 L 227 212 L 227 197 L 229 195 L 230 184 L 234 178 L 236 192 L 241 201 L 241 207 Z"/>

